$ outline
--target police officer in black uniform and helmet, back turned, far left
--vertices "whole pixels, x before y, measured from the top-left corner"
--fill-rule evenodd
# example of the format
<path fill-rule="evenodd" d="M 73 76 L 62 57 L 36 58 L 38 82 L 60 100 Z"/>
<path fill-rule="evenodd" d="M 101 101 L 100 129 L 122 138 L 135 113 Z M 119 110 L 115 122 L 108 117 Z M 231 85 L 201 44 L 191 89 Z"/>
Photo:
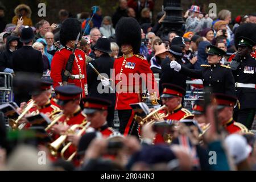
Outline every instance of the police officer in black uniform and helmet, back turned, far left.
<path fill-rule="evenodd" d="M 13 70 L 15 75 L 19 72 L 27 72 L 41 78 L 43 75 L 43 59 L 40 51 L 32 48 L 34 32 L 31 27 L 25 26 L 22 29 L 20 42 L 22 48 L 13 53 Z"/>

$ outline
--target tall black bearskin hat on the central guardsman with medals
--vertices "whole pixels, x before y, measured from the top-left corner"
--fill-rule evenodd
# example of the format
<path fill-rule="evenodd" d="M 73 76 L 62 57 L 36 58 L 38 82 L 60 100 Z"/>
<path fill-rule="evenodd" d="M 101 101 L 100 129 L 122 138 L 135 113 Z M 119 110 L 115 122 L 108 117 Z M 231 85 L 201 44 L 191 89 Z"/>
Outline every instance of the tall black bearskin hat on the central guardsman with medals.
<path fill-rule="evenodd" d="M 134 18 L 121 18 L 115 27 L 115 36 L 117 44 L 121 47 L 123 44 L 130 44 L 135 54 L 139 53 L 141 47 L 141 27 Z"/>

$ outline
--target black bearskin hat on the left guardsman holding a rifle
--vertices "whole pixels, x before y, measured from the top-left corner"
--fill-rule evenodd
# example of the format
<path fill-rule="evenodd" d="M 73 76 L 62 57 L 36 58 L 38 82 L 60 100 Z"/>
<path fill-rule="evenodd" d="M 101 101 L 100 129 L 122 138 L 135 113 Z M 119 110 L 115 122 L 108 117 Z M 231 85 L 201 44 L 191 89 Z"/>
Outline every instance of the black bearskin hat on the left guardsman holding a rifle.
<path fill-rule="evenodd" d="M 80 32 L 81 38 L 81 23 L 75 18 L 67 18 L 61 24 L 60 28 L 60 43 L 65 46 L 69 40 L 76 40 Z"/>

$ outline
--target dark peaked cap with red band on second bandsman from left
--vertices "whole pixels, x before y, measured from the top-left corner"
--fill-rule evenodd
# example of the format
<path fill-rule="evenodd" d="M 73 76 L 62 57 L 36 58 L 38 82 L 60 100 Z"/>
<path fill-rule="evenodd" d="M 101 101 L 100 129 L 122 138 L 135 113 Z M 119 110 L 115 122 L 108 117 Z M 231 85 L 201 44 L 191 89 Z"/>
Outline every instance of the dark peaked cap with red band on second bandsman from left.
<path fill-rule="evenodd" d="M 69 101 L 80 99 L 82 89 L 75 85 L 57 86 L 55 88 L 57 94 L 57 105 L 65 105 Z"/>

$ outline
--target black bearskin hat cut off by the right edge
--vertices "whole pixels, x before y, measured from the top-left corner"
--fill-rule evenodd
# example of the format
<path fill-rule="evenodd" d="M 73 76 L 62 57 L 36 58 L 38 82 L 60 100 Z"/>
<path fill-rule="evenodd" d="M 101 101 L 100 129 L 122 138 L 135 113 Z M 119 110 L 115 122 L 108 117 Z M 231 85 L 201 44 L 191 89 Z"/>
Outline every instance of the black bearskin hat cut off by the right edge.
<path fill-rule="evenodd" d="M 249 38 L 256 43 L 256 24 L 255 23 L 242 23 L 236 30 L 236 34 L 234 36 L 235 46 L 237 48 L 237 44 L 239 42 L 238 38 L 241 36 Z"/>

